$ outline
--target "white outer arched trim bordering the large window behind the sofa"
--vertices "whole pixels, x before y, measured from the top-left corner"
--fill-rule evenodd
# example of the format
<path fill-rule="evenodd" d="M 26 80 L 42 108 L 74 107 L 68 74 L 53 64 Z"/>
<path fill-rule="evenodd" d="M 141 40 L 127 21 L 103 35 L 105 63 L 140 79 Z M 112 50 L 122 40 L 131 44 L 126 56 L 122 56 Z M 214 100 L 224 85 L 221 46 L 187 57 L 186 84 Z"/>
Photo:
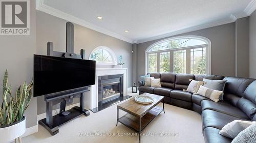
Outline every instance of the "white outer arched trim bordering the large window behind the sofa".
<path fill-rule="evenodd" d="M 211 41 L 208 38 L 206 38 L 206 37 L 195 36 L 195 35 L 185 35 L 185 36 L 171 37 L 171 38 L 167 38 L 167 39 L 164 39 L 164 40 L 160 40 L 160 41 L 158 41 L 156 43 L 153 43 L 152 45 L 148 46 L 146 48 L 146 50 L 145 50 L 145 74 L 147 74 L 147 63 L 148 63 L 147 62 L 147 54 L 151 53 L 148 50 L 150 50 L 155 45 L 158 45 L 158 44 L 166 42 L 166 41 L 185 39 L 185 38 L 198 39 L 198 40 L 202 40 L 202 41 L 207 43 L 207 44 L 205 44 L 207 46 L 206 47 L 206 54 L 207 54 L 207 58 L 206 58 L 207 67 L 206 68 L 207 68 L 207 74 L 211 74 Z M 198 47 L 198 46 L 199 45 L 197 45 L 197 46 L 189 46 L 189 47 L 182 47 L 182 48 L 177 48 L 177 50 L 180 50 L 180 49 L 183 49 L 183 48 L 193 48 L 193 47 Z M 202 45 L 200 45 L 200 46 L 202 46 Z M 175 50 L 175 49 L 172 49 L 172 50 Z M 167 49 L 167 50 L 159 50 L 159 52 L 164 52 L 164 51 L 170 51 L 170 50 L 169 49 Z M 158 52 L 158 51 L 155 51 L 155 52 Z"/>

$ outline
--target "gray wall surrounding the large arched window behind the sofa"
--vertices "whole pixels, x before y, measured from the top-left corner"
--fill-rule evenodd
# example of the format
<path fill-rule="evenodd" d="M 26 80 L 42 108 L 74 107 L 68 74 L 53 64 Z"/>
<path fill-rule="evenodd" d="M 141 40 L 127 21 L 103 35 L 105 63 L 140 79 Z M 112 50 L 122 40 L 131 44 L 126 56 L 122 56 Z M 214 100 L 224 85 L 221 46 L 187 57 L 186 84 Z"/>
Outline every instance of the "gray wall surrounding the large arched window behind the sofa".
<path fill-rule="evenodd" d="M 184 33 L 182 35 L 197 35 L 208 38 L 211 41 L 211 66 L 212 74 L 219 74 L 224 76 L 234 76 L 235 72 L 235 48 L 234 48 L 234 23 L 228 23 L 215 27 L 205 28 L 203 30 Z M 175 37 L 175 36 L 172 36 Z M 169 37 L 166 37 L 169 38 Z M 144 42 L 137 45 L 137 78 L 139 75 L 145 74 L 145 50 L 151 44 L 158 42 L 154 41 Z"/>

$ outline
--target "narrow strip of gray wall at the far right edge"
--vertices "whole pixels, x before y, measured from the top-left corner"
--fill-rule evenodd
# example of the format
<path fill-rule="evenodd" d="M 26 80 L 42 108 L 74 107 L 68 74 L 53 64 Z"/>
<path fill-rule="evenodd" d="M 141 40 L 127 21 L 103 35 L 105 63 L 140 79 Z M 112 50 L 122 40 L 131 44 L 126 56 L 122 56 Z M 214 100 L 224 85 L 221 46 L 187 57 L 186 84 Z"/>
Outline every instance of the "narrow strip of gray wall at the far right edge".
<path fill-rule="evenodd" d="M 256 11 L 249 18 L 249 76 L 256 78 Z"/>

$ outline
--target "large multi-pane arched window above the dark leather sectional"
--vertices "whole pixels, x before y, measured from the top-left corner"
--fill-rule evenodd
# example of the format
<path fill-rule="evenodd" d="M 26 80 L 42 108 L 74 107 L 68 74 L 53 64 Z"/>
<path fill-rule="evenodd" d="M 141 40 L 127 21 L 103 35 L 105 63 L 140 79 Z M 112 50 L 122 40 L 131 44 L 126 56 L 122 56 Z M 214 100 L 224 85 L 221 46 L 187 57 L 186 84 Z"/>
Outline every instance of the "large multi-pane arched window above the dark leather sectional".
<path fill-rule="evenodd" d="M 145 71 L 211 74 L 211 43 L 200 36 L 165 39 L 145 51 Z"/>

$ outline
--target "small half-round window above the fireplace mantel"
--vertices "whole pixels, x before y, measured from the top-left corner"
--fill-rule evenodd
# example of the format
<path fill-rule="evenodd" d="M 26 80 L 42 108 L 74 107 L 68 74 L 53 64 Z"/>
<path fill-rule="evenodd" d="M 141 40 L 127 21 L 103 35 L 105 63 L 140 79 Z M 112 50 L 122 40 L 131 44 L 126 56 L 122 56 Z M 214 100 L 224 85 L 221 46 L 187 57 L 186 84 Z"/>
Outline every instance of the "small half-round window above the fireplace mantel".
<path fill-rule="evenodd" d="M 95 48 L 89 57 L 90 60 L 95 60 L 98 65 L 116 65 L 117 59 L 115 53 L 108 47 L 99 46 Z"/>

